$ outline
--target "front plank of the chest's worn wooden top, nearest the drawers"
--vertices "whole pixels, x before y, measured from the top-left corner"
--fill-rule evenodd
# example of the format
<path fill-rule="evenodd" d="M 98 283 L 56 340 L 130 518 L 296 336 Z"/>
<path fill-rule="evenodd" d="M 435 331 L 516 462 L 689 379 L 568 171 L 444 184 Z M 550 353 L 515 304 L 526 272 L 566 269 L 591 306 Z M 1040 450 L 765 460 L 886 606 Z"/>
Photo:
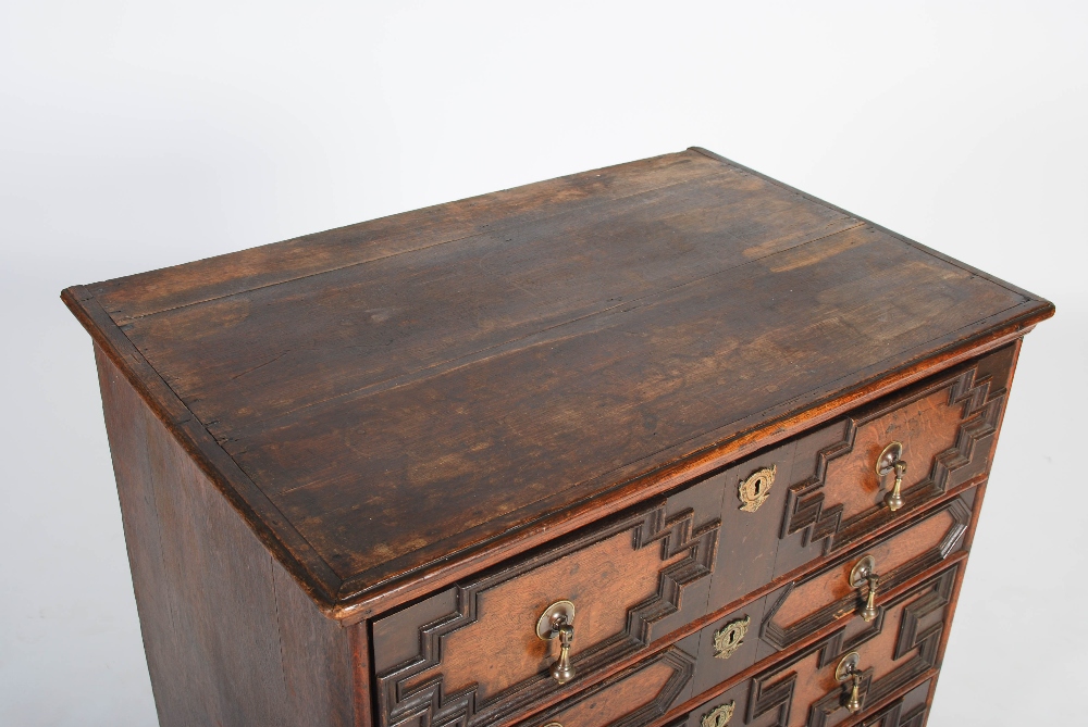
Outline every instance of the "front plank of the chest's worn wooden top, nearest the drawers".
<path fill-rule="evenodd" d="M 881 249 L 868 229 L 841 235 L 856 238 L 840 253 L 854 279 L 804 268 L 769 291 L 747 270 L 763 263 L 750 263 L 472 365 L 264 422 L 225 447 L 345 575 L 473 527 L 502 532 L 487 527 L 496 516 L 559 506 L 621 465 L 650 466 L 666 447 L 799 397 L 814 379 L 926 342 L 923 319 L 961 327 L 977 315 L 956 302 L 977 278 L 962 274 L 944 300 L 902 289 L 904 268 L 923 274 L 923 253 Z M 879 270 L 861 273 L 869 266 Z M 972 293 L 996 309 L 1015 302 L 980 280 Z M 885 309 L 843 310 L 855 297 Z M 790 325 L 802 317 L 818 322 Z"/>

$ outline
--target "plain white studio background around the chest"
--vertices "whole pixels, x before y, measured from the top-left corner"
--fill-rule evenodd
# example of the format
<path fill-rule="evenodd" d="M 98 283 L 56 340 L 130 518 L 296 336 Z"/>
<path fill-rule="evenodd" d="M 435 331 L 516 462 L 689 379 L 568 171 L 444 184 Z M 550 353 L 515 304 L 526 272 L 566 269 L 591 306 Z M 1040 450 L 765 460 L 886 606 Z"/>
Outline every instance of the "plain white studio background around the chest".
<path fill-rule="evenodd" d="M 1084 2 L 4 0 L 0 724 L 156 724 L 61 288 L 691 145 L 1056 303 L 929 724 L 1079 723 L 1086 131 Z"/>

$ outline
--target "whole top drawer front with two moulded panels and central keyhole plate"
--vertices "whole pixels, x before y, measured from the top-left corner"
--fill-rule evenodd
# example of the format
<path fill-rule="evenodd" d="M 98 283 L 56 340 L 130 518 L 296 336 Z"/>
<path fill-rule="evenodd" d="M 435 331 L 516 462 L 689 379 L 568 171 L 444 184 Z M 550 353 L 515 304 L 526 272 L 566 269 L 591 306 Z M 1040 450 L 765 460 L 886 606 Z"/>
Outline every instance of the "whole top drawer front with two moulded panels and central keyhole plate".
<path fill-rule="evenodd" d="M 553 604 L 573 604 L 572 664 L 592 675 L 985 473 L 1015 351 L 932 377 L 374 621 L 378 724 L 491 724 L 577 691 L 578 679 L 549 674 L 560 639 L 537 636 Z M 894 512 L 883 504 L 891 477 L 875 468 L 892 441 L 906 462 Z"/>

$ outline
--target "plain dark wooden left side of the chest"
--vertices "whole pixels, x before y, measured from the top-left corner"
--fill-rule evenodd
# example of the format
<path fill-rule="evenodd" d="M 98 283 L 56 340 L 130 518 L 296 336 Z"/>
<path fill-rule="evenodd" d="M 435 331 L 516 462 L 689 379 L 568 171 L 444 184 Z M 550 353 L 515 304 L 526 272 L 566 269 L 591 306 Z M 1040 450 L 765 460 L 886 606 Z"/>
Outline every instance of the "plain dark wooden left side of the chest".
<path fill-rule="evenodd" d="M 161 727 L 368 727 L 362 625 L 290 576 L 96 347 Z"/>

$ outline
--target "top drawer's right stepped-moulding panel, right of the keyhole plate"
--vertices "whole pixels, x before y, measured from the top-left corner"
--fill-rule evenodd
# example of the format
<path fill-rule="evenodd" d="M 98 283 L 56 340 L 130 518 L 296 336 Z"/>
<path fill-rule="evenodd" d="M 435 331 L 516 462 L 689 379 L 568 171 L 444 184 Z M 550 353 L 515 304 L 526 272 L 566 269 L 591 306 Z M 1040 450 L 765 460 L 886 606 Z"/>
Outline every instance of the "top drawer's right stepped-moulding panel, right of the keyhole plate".
<path fill-rule="evenodd" d="M 775 575 L 846 548 L 989 469 L 1016 360 L 1014 344 L 824 427 L 796 442 Z M 902 505 L 887 504 L 895 472 L 881 453 L 902 444 Z"/>

